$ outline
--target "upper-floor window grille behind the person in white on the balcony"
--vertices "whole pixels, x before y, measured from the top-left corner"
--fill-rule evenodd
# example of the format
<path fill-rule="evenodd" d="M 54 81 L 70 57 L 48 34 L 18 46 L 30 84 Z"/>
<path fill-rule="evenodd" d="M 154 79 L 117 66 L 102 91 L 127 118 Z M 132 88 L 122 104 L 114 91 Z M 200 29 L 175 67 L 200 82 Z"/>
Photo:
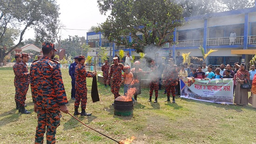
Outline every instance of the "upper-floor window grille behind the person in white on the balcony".
<path fill-rule="evenodd" d="M 235 31 L 236 37 L 243 36 L 244 24 L 212 26 L 208 28 L 208 38 L 225 38 Z"/>

